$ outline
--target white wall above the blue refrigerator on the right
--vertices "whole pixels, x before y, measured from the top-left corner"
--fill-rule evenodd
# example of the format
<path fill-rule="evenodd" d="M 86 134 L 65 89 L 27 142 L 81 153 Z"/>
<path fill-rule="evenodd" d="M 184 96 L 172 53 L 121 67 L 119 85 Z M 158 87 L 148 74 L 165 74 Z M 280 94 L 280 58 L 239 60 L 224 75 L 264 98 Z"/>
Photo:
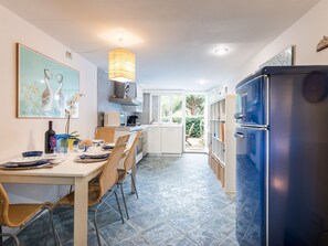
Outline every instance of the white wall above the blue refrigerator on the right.
<path fill-rule="evenodd" d="M 239 73 L 230 82 L 229 92 L 234 93 L 234 87 L 240 81 L 290 45 L 296 46 L 295 65 L 328 65 L 328 49 L 316 52 L 317 44 L 324 35 L 328 35 L 328 0 L 319 1 L 243 67 L 236 67 Z"/>

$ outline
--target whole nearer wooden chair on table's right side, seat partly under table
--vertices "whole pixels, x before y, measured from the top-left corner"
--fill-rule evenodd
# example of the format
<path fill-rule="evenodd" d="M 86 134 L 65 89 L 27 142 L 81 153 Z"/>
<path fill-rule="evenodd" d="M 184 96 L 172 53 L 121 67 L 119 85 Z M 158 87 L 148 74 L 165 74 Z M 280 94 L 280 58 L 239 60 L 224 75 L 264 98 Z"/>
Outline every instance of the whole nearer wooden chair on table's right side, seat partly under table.
<path fill-rule="evenodd" d="M 100 244 L 100 236 L 99 236 L 99 231 L 98 231 L 98 225 L 96 220 L 97 211 L 103 205 L 103 201 L 105 201 L 113 193 L 115 194 L 115 197 L 116 197 L 121 223 L 124 223 L 117 193 L 113 189 L 113 186 L 115 186 L 117 182 L 117 171 L 116 171 L 117 165 L 119 163 L 119 160 L 121 159 L 121 156 L 124 153 L 128 139 L 129 139 L 129 135 L 119 137 L 117 139 L 116 145 L 109 156 L 108 161 L 104 165 L 104 169 L 100 175 L 96 179 L 96 181 L 93 180 L 92 182 L 88 183 L 88 207 L 91 211 L 94 212 L 94 224 L 95 224 L 97 240 L 99 246 L 102 244 Z M 74 191 L 68 193 L 66 196 L 62 197 L 54 205 L 54 207 L 60 205 L 74 206 Z M 94 208 L 94 206 L 96 206 L 96 208 Z"/>

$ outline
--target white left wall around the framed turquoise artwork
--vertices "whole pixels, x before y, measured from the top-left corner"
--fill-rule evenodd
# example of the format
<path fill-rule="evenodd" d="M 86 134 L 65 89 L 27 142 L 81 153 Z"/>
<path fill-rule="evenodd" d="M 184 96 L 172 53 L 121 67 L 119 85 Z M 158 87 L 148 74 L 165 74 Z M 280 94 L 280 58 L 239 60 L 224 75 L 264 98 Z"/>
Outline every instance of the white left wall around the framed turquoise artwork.
<path fill-rule="evenodd" d="M 25 150 L 43 150 L 49 119 L 19 119 L 17 108 L 15 43 L 22 43 L 53 60 L 80 71 L 80 89 L 86 94 L 80 101 L 80 118 L 73 119 L 71 130 L 92 138 L 97 125 L 97 67 L 73 54 L 70 49 L 0 6 L 0 162 L 19 157 Z M 64 132 L 65 119 L 53 119 L 56 132 Z M 11 202 L 52 200 L 57 186 L 6 185 Z"/>

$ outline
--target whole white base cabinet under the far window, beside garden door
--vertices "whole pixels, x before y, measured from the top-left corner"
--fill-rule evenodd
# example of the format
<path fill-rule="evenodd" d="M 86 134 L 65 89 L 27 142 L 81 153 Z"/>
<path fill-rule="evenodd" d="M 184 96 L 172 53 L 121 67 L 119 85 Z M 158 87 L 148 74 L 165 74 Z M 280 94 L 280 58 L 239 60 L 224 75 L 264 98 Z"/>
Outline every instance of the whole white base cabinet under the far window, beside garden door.
<path fill-rule="evenodd" d="M 181 125 L 150 125 L 148 128 L 149 153 L 182 153 L 183 135 Z"/>

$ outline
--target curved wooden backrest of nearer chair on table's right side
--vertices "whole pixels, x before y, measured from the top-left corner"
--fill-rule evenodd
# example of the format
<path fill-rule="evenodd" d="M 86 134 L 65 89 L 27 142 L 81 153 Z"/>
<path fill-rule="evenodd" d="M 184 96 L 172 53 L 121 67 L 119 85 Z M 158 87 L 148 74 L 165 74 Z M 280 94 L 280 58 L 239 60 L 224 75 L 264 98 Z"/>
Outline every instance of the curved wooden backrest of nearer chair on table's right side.
<path fill-rule="evenodd" d="M 129 135 L 126 135 L 119 137 L 115 143 L 115 147 L 99 178 L 100 196 L 103 196 L 117 182 L 117 165 L 123 157 L 128 139 Z"/>

